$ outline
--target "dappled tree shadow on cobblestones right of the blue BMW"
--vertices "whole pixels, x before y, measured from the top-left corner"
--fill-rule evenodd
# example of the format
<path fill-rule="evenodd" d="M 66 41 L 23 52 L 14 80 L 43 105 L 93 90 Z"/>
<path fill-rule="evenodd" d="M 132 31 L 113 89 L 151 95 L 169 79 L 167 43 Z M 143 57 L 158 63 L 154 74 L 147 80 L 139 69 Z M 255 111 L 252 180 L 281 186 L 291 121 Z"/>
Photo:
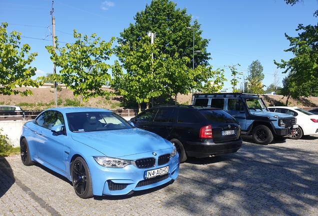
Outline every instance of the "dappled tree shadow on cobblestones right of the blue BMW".
<path fill-rule="evenodd" d="M 249 142 L 252 139 L 248 137 L 247 140 L 235 153 L 219 158 L 190 158 L 181 164 L 182 185 L 198 187 L 183 192 L 182 196 L 169 197 L 165 205 L 178 204 L 185 209 L 191 205 L 190 200 L 199 200 L 197 206 L 187 208 L 191 215 L 203 215 L 202 206 L 210 206 L 216 212 L 225 209 L 231 215 L 242 212 L 246 215 L 316 215 L 318 158 L 312 148 L 316 146 L 315 141 L 306 148 L 297 148 L 289 145 L 294 141 L 290 139 L 268 145 Z M 298 143 L 303 142 L 298 140 Z M 194 171 L 194 176 L 188 175 Z"/>

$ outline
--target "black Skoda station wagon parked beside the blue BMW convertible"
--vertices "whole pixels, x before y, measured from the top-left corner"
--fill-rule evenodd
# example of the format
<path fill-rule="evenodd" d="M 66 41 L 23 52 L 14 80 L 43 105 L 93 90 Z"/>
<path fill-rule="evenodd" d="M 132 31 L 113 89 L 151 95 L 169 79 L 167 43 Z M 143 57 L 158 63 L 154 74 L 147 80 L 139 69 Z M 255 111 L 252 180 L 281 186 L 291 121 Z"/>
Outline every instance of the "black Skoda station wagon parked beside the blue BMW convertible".
<path fill-rule="evenodd" d="M 130 121 L 172 142 L 180 162 L 188 156 L 212 157 L 236 152 L 242 144 L 238 121 L 219 108 L 158 105 Z"/>

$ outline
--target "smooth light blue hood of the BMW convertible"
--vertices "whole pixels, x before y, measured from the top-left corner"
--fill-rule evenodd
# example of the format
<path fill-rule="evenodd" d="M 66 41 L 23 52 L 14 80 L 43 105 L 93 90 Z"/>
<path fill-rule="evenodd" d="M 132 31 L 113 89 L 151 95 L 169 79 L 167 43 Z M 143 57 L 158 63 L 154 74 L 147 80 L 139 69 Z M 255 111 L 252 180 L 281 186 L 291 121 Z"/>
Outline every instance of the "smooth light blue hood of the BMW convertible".
<path fill-rule="evenodd" d="M 123 157 L 172 148 L 172 143 L 169 141 L 138 128 L 76 132 L 71 133 L 71 137 L 110 157 Z"/>

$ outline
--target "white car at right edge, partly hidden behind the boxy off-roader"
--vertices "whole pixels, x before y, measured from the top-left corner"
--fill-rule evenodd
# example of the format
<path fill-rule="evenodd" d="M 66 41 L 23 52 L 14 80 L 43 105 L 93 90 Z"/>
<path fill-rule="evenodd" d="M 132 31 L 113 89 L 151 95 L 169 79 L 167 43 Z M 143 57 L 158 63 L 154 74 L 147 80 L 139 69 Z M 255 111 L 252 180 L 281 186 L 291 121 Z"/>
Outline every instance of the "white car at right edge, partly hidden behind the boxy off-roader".
<path fill-rule="evenodd" d="M 298 139 L 303 135 L 318 134 L 318 115 L 298 108 L 297 106 L 269 106 L 269 111 L 291 114 L 297 119 L 297 132 L 289 138 Z"/>

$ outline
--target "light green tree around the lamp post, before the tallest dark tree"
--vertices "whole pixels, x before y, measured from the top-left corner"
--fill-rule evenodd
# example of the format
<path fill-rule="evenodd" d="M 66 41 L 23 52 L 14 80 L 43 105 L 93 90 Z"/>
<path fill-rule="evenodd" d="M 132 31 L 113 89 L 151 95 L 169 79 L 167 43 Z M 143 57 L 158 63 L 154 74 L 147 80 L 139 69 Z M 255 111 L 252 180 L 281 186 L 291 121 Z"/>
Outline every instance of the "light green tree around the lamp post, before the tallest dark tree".
<path fill-rule="evenodd" d="M 144 41 L 136 41 L 121 44 L 121 50 L 117 57 L 122 59 L 125 65 L 124 72 L 119 61 L 115 61 L 112 67 L 113 79 L 110 86 L 117 90 L 117 93 L 123 95 L 127 100 L 134 100 L 138 103 L 139 111 L 141 111 L 140 103 L 149 102 L 149 98 L 162 94 L 160 89 L 160 80 L 154 78 L 156 76 L 156 68 L 160 65 L 157 59 L 151 58 L 151 53 L 157 53 L 155 45 L 151 45 L 149 38 L 143 37 Z M 126 52 L 126 50 L 130 50 Z"/>

